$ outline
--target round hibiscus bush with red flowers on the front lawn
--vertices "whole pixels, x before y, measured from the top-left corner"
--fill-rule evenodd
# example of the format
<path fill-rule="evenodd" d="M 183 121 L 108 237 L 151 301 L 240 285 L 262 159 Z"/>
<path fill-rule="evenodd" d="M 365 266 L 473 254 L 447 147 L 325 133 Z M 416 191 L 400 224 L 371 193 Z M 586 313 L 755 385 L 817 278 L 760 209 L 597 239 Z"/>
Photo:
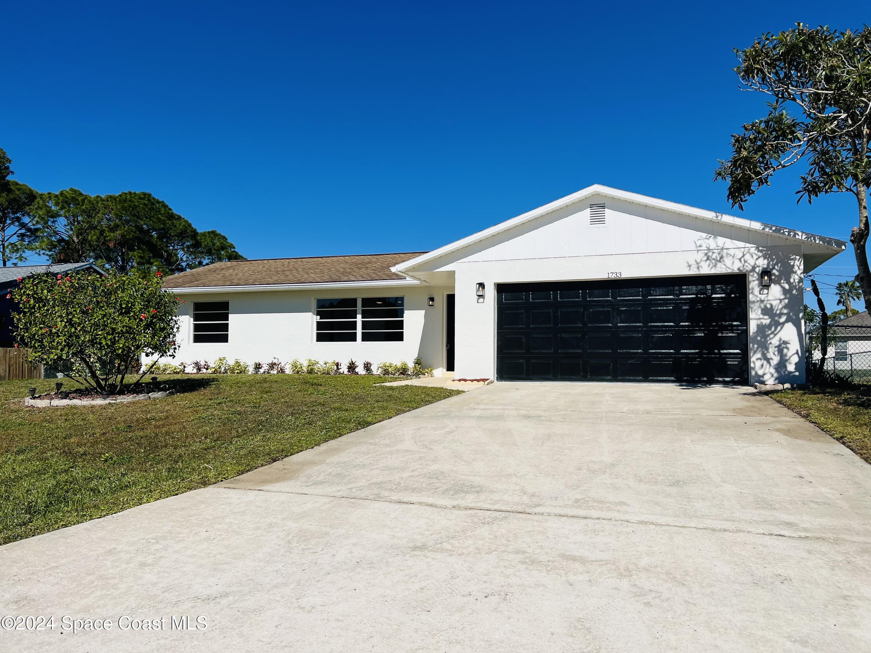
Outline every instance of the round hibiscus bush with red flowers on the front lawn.
<path fill-rule="evenodd" d="M 16 347 L 27 347 L 34 363 L 71 370 L 64 374 L 98 392 L 138 383 L 178 349 L 179 299 L 163 290 L 160 273 L 35 275 L 19 279 L 12 299 Z M 143 354 L 154 362 L 142 367 Z"/>

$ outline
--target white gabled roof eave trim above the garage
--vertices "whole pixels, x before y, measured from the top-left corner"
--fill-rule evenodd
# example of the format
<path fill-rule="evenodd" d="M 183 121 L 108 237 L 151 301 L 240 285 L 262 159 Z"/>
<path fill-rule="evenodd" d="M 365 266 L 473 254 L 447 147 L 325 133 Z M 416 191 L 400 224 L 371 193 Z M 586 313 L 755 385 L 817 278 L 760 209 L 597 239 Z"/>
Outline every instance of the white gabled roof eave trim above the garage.
<path fill-rule="evenodd" d="M 491 226 L 488 229 L 484 229 L 481 232 L 473 233 L 464 239 L 459 239 L 453 243 L 449 243 L 448 245 L 439 247 L 432 252 L 422 254 L 415 259 L 407 260 L 403 263 L 398 264 L 395 267 L 392 267 L 391 270 L 393 270 L 395 273 L 413 276 L 412 271 L 415 267 L 422 266 L 423 264 L 428 263 L 431 260 L 439 259 L 446 254 L 456 252 L 457 250 L 463 249 L 463 247 L 475 245 L 482 240 L 489 239 L 499 233 L 506 232 L 516 226 L 523 225 L 523 223 L 529 222 L 530 220 L 541 218 L 542 216 L 547 215 L 548 213 L 552 213 L 554 211 L 558 211 L 565 206 L 576 204 L 577 202 L 582 202 L 584 201 L 584 199 L 590 198 L 593 195 L 601 195 L 606 198 L 621 199 L 635 204 L 652 206 L 672 213 L 679 213 L 681 215 L 691 216 L 693 218 L 706 219 L 711 222 L 726 223 L 729 225 L 743 227 L 745 229 L 750 229 L 751 231 L 773 233 L 778 236 L 794 239 L 802 244 L 813 244 L 814 246 L 827 248 L 828 250 L 833 252 L 833 256 L 837 253 L 844 251 L 847 246 L 847 243 L 845 241 L 828 238 L 827 236 L 818 236 L 814 233 L 798 232 L 793 229 L 787 229 L 786 227 L 768 225 L 764 222 L 757 222 L 755 220 L 750 220 L 746 218 L 737 218 L 735 216 L 726 215 L 724 213 L 706 211 L 704 209 L 695 208 L 694 206 L 678 204 L 676 202 L 669 202 L 665 199 L 652 198 L 646 195 L 640 195 L 635 192 L 620 191 L 617 188 L 610 188 L 609 186 L 595 184 L 588 186 L 578 192 L 574 192 L 571 195 L 566 195 L 564 198 L 556 199 L 553 202 L 550 202 L 550 204 L 545 204 L 544 206 L 539 206 L 537 209 L 533 209 L 532 211 L 522 213 L 516 218 L 505 220 L 504 222 L 501 222 L 498 225 Z"/>

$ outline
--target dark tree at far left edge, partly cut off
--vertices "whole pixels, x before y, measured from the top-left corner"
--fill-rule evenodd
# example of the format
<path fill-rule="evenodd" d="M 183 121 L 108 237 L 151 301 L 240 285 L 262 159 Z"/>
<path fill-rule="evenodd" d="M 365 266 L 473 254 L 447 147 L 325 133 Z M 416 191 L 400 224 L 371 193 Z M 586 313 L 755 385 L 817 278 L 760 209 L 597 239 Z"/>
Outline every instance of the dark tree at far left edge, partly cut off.
<path fill-rule="evenodd" d="M 35 240 L 30 225 L 30 206 L 37 192 L 10 176 L 12 160 L 0 148 L 0 261 L 3 267 L 25 258 Z"/>

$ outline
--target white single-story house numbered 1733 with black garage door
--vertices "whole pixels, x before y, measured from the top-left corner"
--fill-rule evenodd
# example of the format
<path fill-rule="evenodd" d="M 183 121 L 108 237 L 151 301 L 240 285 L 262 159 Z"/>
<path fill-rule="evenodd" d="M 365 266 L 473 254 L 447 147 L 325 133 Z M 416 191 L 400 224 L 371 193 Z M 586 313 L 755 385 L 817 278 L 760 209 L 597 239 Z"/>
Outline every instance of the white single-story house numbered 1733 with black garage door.
<path fill-rule="evenodd" d="M 593 185 L 433 252 L 165 280 L 176 360 L 410 362 L 496 380 L 804 380 L 804 274 L 841 240 Z"/>

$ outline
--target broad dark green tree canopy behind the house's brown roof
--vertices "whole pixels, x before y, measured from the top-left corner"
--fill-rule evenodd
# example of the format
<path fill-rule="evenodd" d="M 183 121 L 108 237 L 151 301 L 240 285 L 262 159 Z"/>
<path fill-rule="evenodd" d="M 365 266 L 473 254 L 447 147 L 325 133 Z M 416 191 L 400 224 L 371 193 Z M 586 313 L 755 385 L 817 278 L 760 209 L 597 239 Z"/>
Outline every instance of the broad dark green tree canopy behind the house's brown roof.
<path fill-rule="evenodd" d="M 53 263 L 91 260 L 119 273 L 178 273 L 244 259 L 226 236 L 198 232 L 148 192 L 90 196 L 76 188 L 43 193 L 34 207 L 38 251 Z"/>

